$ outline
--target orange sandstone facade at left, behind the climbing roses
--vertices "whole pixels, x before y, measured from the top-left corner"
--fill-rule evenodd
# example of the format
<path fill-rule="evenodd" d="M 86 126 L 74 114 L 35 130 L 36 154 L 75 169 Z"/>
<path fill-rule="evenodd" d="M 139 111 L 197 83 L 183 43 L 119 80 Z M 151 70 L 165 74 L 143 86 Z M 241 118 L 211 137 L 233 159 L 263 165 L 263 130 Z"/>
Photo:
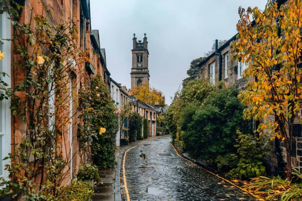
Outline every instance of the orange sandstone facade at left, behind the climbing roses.
<path fill-rule="evenodd" d="M 85 64 L 75 66 L 74 62 L 70 65 L 74 65 L 70 68 L 70 81 L 66 84 L 69 90 L 69 100 L 71 102 L 69 109 L 66 109 L 67 114 L 70 115 L 71 125 L 66 125 L 63 128 L 62 137 L 60 138 L 61 146 L 66 146 L 67 149 L 62 149 L 62 155 L 70 161 L 70 167 L 68 170 L 68 177 L 66 177 L 62 185 L 70 183 L 75 177 L 75 174 L 79 168 L 80 156 L 79 156 L 79 142 L 77 139 L 77 126 L 78 126 L 78 113 L 77 106 L 73 104 L 76 102 L 80 87 L 89 89 L 90 77 L 95 74 L 103 75 L 106 85 L 109 87 L 110 72 L 106 67 L 106 58 L 104 49 L 100 48 L 98 30 L 91 29 L 91 18 L 90 18 L 90 3 L 89 0 L 24 0 L 19 1 L 24 8 L 21 11 L 20 22 L 28 24 L 31 19 L 31 12 L 35 15 L 46 15 L 45 17 L 49 20 L 50 24 L 60 24 L 61 20 L 70 21 L 76 24 L 78 28 L 78 41 L 77 46 L 88 56 L 88 61 Z M 1 6 L 1 3 L 0 3 Z M 47 15 L 43 7 L 47 7 L 51 10 L 52 16 Z M 43 13 L 42 13 L 43 11 Z M 8 14 L 0 14 L 0 36 L 1 38 L 11 38 L 13 33 L 13 27 Z M 14 44 L 9 41 L 3 41 L 0 39 L 0 50 L 5 52 L 5 60 L 0 62 L 3 66 L 3 71 L 6 72 L 9 77 L 5 77 L 5 81 L 9 87 L 14 88 L 18 83 L 24 79 L 25 72 L 21 67 L 12 66 L 13 63 L 18 63 L 20 55 L 15 50 Z M 72 61 L 72 60 L 70 60 Z M 68 61 L 69 62 L 69 61 Z M 21 99 L 25 98 L 24 93 L 18 94 Z M 20 115 L 11 115 L 9 109 L 10 101 L 5 100 L 1 102 L 0 113 L 0 124 L 2 124 L 2 130 L 0 132 L 0 157 L 4 158 L 8 153 L 12 153 L 15 150 L 11 143 L 20 143 L 26 137 L 27 125 L 22 120 Z M 3 131 L 3 132 L 2 132 Z M 8 172 L 4 169 L 5 164 L 10 163 L 8 160 L 0 162 L 0 177 L 7 178 Z"/>

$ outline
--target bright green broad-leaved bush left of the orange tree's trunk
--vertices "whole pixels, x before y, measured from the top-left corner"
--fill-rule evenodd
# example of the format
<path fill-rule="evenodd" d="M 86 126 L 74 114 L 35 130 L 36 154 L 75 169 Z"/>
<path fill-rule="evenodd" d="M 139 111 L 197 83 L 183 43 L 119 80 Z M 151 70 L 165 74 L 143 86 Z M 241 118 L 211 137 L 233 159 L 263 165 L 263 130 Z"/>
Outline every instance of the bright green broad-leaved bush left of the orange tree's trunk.
<path fill-rule="evenodd" d="M 235 145 L 239 155 L 239 163 L 227 175 L 231 177 L 252 178 L 265 175 L 263 158 L 268 155 L 269 146 L 265 145 L 268 141 L 264 135 L 259 138 L 252 135 L 245 135 L 237 131 L 239 144 Z"/>

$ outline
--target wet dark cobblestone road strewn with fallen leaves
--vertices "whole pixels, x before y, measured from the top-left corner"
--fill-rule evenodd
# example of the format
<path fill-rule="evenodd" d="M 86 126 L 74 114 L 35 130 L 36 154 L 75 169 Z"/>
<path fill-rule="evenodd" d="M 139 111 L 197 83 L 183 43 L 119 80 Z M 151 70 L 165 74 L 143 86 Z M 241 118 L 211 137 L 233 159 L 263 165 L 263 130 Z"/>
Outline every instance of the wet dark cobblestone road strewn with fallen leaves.
<path fill-rule="evenodd" d="M 170 141 L 168 136 L 149 140 L 127 152 L 125 175 L 131 201 L 256 200 L 180 158 Z M 124 186 L 123 179 L 121 182 Z M 127 200 L 125 188 L 122 190 Z"/>

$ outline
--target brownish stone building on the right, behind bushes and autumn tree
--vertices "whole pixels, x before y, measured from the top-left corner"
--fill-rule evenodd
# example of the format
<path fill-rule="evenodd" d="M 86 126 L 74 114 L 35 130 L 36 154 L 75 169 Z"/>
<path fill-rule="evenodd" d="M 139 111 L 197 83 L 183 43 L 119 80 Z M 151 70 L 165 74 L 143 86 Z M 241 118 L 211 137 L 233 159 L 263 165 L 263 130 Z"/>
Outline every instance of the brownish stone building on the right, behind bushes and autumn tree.
<path fill-rule="evenodd" d="M 280 0 L 278 2 L 282 4 L 286 1 Z M 255 77 L 243 79 L 242 73 L 247 68 L 247 65 L 231 59 L 232 43 L 236 42 L 236 35 L 220 48 L 218 48 L 216 40 L 215 52 L 198 64 L 199 76 L 208 78 L 213 84 L 224 81 L 226 86 L 235 86 L 239 90 L 243 90 L 246 87 L 247 81 L 255 80 Z M 250 120 L 250 123 L 253 129 L 259 124 L 259 122 L 254 122 L 254 120 Z M 267 170 L 268 174 L 277 174 L 278 170 L 286 167 L 286 150 L 284 143 L 280 142 L 277 138 L 271 141 L 271 145 L 269 159 L 266 163 Z M 293 167 L 302 172 L 302 124 L 298 118 L 295 119 L 293 124 L 291 162 Z"/>

